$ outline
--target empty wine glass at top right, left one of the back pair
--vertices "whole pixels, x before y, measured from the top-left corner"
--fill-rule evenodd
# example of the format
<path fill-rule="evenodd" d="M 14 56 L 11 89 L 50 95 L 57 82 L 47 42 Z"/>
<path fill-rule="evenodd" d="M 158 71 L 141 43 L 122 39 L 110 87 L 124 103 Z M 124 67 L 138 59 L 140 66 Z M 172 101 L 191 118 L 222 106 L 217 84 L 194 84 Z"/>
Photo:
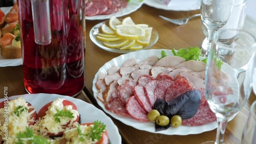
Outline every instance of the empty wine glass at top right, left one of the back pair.
<path fill-rule="evenodd" d="M 201 0 L 201 19 L 208 32 L 207 56 L 214 32 L 222 28 L 231 15 L 235 0 Z"/>

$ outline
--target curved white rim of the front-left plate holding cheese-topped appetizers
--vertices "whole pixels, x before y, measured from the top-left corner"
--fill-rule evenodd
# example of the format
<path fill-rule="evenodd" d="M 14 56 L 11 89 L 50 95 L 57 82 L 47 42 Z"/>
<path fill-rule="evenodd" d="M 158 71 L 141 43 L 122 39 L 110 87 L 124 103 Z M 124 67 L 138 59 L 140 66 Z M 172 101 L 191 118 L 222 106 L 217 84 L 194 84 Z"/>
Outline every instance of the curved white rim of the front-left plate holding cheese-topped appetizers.
<path fill-rule="evenodd" d="M 83 108 L 81 106 L 84 107 L 89 107 L 90 109 L 93 109 L 92 111 L 96 111 L 98 115 L 100 115 L 102 117 L 102 120 L 104 120 L 104 123 L 108 123 L 108 125 L 106 125 L 106 129 L 109 135 L 109 139 L 111 142 L 117 142 L 121 144 L 122 138 L 121 135 L 119 133 L 119 130 L 117 128 L 117 126 L 115 125 L 115 123 L 112 121 L 112 119 L 106 115 L 104 113 L 104 111 L 98 109 L 97 107 L 95 107 L 93 104 L 87 103 L 85 101 L 82 101 L 81 99 L 76 99 L 67 95 L 59 95 L 59 94 L 49 94 L 49 93 L 34 93 L 34 94 L 20 94 L 20 95 L 13 95 L 8 97 L 8 100 L 13 100 L 19 97 L 23 97 L 26 101 L 29 99 L 29 103 L 35 103 L 36 101 L 39 102 L 38 99 L 34 99 L 33 97 L 41 97 L 41 99 L 44 99 L 44 97 L 50 97 L 49 99 L 44 99 L 44 101 L 46 101 L 45 104 L 47 104 L 48 102 L 51 102 L 52 100 L 55 100 L 57 98 L 63 98 L 69 101 L 72 101 L 78 108 L 79 113 L 84 113 L 85 111 L 81 111 Z M 4 101 L 5 98 L 0 99 L 0 102 Z M 40 101 L 41 102 L 41 101 Z M 31 103 L 31 104 L 32 104 Z M 41 104 L 42 106 L 44 104 Z M 35 107 L 35 109 L 40 109 L 41 107 L 39 107 L 38 105 L 32 104 L 33 107 Z M 38 112 L 38 111 L 36 111 Z M 81 116 L 81 121 L 83 116 Z M 96 119 L 95 119 L 96 120 Z M 102 121 L 101 121 L 102 122 Z M 87 123 L 87 122 L 86 122 Z"/>

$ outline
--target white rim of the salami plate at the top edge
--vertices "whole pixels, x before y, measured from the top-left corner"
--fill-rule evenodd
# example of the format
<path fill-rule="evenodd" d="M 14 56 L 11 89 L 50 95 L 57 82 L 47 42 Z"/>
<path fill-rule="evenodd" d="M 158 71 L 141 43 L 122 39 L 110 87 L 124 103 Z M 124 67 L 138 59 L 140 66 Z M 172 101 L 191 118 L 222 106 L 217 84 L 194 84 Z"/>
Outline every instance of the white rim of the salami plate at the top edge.
<path fill-rule="evenodd" d="M 110 19 L 111 16 L 116 16 L 116 17 L 121 17 L 127 14 L 130 14 L 137 9 L 139 9 L 143 4 L 143 1 L 141 2 L 140 0 L 130 0 L 128 3 L 127 7 L 122 8 L 120 11 L 108 14 L 108 15 L 94 15 L 94 16 L 86 16 L 86 19 L 88 20 L 97 20 L 97 19 Z"/>

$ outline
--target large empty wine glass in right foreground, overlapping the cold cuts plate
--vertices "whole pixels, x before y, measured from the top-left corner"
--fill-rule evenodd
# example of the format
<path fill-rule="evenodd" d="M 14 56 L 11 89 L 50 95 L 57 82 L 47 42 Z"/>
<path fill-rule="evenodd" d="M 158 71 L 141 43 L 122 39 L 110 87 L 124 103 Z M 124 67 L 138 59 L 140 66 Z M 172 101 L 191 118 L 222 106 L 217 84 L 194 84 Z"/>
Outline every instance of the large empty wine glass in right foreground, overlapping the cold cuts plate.
<path fill-rule="evenodd" d="M 233 38 L 223 40 L 228 34 Z M 214 34 L 207 57 L 205 92 L 209 107 L 217 116 L 218 127 L 216 141 L 204 143 L 223 143 L 228 119 L 238 113 L 249 98 L 256 65 L 255 39 L 251 33 L 235 29 Z M 226 63 L 219 56 L 220 48 L 231 52 L 223 55 Z"/>

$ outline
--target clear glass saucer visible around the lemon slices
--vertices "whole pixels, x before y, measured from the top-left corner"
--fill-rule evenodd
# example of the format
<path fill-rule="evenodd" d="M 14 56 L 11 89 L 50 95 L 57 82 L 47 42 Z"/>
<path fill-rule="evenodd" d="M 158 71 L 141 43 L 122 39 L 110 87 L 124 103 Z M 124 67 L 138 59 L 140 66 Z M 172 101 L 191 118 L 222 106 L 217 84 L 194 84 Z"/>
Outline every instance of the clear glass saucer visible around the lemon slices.
<path fill-rule="evenodd" d="M 125 54 L 125 53 L 129 53 L 129 52 L 134 52 L 134 51 L 140 51 L 140 50 L 146 50 L 148 48 L 150 48 L 152 45 L 154 45 L 157 40 L 158 40 L 158 32 L 156 29 L 152 29 L 152 33 L 151 33 L 151 39 L 150 39 L 150 44 L 148 46 L 144 46 L 142 49 L 140 50 L 119 50 L 119 49 L 111 49 L 109 47 L 106 47 L 102 44 L 102 42 L 100 40 L 96 39 L 97 34 L 101 31 L 101 25 L 103 25 L 103 23 L 105 23 L 105 25 L 109 26 L 109 20 L 103 21 L 98 23 L 97 25 L 95 25 L 91 31 L 90 31 L 90 38 L 91 40 L 97 45 L 99 46 L 101 49 L 109 51 L 109 52 L 114 52 L 114 53 L 121 53 L 121 54 Z M 150 26 L 148 26 L 150 27 Z"/>

